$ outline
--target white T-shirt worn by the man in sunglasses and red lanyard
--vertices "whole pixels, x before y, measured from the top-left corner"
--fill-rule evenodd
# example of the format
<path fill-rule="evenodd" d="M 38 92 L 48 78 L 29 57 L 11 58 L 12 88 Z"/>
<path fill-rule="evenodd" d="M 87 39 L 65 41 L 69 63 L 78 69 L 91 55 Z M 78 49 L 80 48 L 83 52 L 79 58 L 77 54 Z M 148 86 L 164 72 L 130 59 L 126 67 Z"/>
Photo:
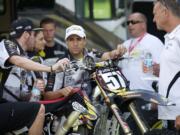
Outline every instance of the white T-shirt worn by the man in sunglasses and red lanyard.
<path fill-rule="evenodd" d="M 123 43 L 127 50 L 132 45 L 136 45 L 133 50 L 129 53 L 127 52 L 125 56 L 130 56 L 131 59 L 123 60 L 122 72 L 130 81 L 130 89 L 145 89 L 153 91 L 152 80 L 144 80 L 143 78 L 153 77 L 152 74 L 147 74 L 143 72 L 142 63 L 144 60 L 145 52 L 150 52 L 152 54 L 153 62 L 159 63 L 160 53 L 164 47 L 163 43 L 157 37 L 146 33 L 141 40 L 141 37 L 129 39 Z M 139 40 L 139 41 L 138 41 Z"/>

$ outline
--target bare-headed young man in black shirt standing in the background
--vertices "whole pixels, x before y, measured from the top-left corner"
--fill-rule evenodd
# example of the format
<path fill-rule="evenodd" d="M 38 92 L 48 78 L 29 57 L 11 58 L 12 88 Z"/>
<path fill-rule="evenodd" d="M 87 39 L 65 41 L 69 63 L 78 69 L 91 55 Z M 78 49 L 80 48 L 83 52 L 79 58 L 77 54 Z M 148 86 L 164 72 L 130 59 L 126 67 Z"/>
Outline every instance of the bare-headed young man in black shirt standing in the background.
<path fill-rule="evenodd" d="M 43 28 L 44 39 L 46 40 L 44 59 L 62 58 L 67 48 L 55 41 L 56 22 L 51 18 L 44 18 L 40 22 L 40 27 Z"/>

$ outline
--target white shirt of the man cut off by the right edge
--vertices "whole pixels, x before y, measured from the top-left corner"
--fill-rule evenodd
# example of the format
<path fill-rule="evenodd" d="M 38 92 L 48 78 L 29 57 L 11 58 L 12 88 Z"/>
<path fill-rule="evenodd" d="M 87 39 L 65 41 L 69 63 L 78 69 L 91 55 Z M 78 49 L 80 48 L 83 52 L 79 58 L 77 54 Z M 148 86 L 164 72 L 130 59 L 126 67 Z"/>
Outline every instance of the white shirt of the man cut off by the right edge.
<path fill-rule="evenodd" d="M 165 48 L 160 57 L 159 93 L 166 96 L 167 89 L 180 71 L 180 25 L 171 33 L 165 35 Z M 159 119 L 175 120 L 180 115 L 180 78 L 174 83 L 168 98 L 176 103 L 176 106 L 159 106 Z"/>

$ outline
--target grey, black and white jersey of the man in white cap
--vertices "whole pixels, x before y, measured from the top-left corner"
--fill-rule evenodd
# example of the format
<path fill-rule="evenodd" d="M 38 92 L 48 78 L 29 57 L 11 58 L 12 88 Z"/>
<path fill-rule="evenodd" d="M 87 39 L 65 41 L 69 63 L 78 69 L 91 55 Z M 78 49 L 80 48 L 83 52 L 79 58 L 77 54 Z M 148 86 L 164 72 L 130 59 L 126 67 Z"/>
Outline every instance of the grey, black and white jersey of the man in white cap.
<path fill-rule="evenodd" d="M 99 61 L 102 55 L 103 53 L 101 52 L 84 49 L 84 58 L 86 56 L 91 56 L 95 61 Z M 69 51 L 66 53 L 64 58 L 68 58 L 70 61 L 77 61 L 76 59 L 73 58 L 73 56 L 70 54 Z M 85 90 L 87 95 L 89 96 L 92 94 L 92 84 L 90 81 L 90 74 L 88 71 L 85 71 L 84 69 L 77 69 L 76 71 L 68 72 L 68 73 L 66 72 L 56 73 L 54 77 L 48 77 L 47 82 L 49 82 L 49 80 L 50 82 L 53 82 L 52 83 L 53 85 L 47 88 L 46 91 L 51 91 L 51 90 L 56 91 L 67 86 L 73 86 L 73 87 L 83 88 L 83 90 Z"/>

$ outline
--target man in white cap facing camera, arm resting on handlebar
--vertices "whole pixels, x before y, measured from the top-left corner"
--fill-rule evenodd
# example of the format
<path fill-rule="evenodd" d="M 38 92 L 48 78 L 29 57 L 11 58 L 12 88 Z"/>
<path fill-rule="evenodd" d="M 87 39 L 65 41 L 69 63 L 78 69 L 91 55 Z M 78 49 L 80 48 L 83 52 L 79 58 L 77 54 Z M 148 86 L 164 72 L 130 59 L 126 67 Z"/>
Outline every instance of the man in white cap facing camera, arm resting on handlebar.
<path fill-rule="evenodd" d="M 82 62 L 86 56 L 91 56 L 95 61 L 113 59 L 121 56 L 125 50 L 124 48 L 114 49 L 107 52 L 98 52 L 94 50 L 88 50 L 86 48 L 87 37 L 83 27 L 79 25 L 71 25 L 66 29 L 65 41 L 68 47 L 67 53 L 64 58 L 68 58 L 70 61 Z M 51 99 L 58 96 L 56 92 L 61 90 L 72 90 L 73 87 L 80 87 L 86 91 L 87 95 L 92 95 L 92 84 L 90 80 L 89 72 L 84 69 L 78 69 L 71 75 L 65 75 L 65 73 L 50 74 L 47 78 L 46 86 L 46 98 Z M 54 83 L 52 83 L 54 82 Z M 52 94 L 54 90 L 54 94 Z"/>

